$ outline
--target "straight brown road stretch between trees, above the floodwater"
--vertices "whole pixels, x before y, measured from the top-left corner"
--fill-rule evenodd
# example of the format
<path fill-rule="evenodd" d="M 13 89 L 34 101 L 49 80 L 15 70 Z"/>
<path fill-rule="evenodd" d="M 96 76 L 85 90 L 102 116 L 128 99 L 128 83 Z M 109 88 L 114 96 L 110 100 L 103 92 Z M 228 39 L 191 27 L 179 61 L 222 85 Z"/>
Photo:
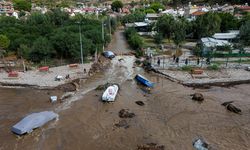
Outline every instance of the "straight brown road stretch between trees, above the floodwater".
<path fill-rule="evenodd" d="M 114 33 L 112 41 L 108 46 L 108 49 L 112 50 L 113 52 L 117 54 L 130 52 L 129 46 L 123 34 L 124 34 L 124 30 L 118 29 Z"/>

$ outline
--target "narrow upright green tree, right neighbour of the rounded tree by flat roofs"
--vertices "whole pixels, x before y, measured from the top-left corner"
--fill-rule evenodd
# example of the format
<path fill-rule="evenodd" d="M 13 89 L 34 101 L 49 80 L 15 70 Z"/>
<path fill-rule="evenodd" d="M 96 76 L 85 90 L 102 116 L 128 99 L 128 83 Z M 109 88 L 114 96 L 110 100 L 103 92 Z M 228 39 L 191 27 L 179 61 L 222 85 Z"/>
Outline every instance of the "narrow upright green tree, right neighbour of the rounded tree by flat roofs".
<path fill-rule="evenodd" d="M 181 20 L 175 21 L 173 27 L 172 40 L 174 41 L 177 48 L 185 40 L 185 38 L 186 38 L 185 24 Z"/>

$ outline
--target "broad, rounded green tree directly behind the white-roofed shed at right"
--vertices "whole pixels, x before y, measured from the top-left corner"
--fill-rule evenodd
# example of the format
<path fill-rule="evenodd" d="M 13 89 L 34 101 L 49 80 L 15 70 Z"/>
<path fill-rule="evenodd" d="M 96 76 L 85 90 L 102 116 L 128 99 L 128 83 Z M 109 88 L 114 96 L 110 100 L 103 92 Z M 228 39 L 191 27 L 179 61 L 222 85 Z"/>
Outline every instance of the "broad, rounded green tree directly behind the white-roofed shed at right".
<path fill-rule="evenodd" d="M 221 19 L 216 13 L 206 13 L 195 20 L 195 37 L 212 36 L 220 31 Z"/>

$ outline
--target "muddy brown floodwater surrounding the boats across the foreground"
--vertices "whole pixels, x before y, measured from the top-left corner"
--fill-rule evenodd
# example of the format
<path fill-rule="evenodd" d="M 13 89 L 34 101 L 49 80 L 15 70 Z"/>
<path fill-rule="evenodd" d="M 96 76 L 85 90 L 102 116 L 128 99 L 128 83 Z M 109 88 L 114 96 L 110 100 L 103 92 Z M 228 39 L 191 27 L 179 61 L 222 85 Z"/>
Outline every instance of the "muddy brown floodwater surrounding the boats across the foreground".
<path fill-rule="evenodd" d="M 120 41 L 121 31 L 118 33 L 115 40 Z M 124 44 L 121 47 L 126 47 Z M 115 47 L 118 46 L 111 45 Z M 192 142 L 199 137 L 218 150 L 250 148 L 250 85 L 192 89 L 144 73 L 133 67 L 134 60 L 133 56 L 116 57 L 104 73 L 88 79 L 64 103 L 49 102 L 50 95 L 62 94 L 61 91 L 1 88 L 0 150 L 135 150 L 137 145 L 152 142 L 164 145 L 166 150 L 193 150 Z M 155 82 L 150 94 L 133 80 L 137 73 Z M 102 103 L 103 91 L 94 90 L 107 82 L 121 86 L 114 103 Z M 203 103 L 191 100 L 194 92 L 204 95 Z M 242 115 L 221 106 L 232 100 Z M 139 106 L 136 101 L 145 105 Z M 121 109 L 129 109 L 135 116 L 120 118 Z M 22 137 L 11 133 L 11 126 L 23 116 L 45 110 L 54 110 L 59 119 Z M 126 126 L 117 126 L 120 122 Z"/>

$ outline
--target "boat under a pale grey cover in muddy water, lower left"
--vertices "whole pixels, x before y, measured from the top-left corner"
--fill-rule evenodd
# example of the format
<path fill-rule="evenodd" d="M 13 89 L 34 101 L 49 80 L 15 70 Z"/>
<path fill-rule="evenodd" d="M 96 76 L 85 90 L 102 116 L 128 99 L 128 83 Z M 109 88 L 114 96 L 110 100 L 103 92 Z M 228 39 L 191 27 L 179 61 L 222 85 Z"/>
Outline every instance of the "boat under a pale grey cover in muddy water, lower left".
<path fill-rule="evenodd" d="M 53 111 L 43 111 L 39 113 L 32 113 L 24 117 L 21 121 L 15 124 L 11 131 L 15 134 L 22 135 L 25 133 L 30 133 L 33 129 L 43 126 L 47 122 L 58 118 L 58 114 Z"/>

